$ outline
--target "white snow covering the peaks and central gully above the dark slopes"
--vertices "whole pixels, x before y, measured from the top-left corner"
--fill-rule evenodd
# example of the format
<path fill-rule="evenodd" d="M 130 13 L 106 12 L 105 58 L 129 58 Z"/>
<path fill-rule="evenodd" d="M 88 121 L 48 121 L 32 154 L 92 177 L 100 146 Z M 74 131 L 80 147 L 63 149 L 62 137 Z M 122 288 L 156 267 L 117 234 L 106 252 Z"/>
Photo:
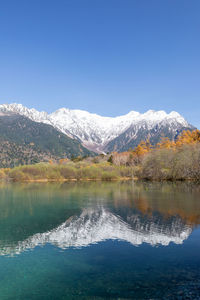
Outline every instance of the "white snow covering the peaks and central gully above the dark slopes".
<path fill-rule="evenodd" d="M 83 145 L 94 151 L 103 151 L 106 145 L 128 130 L 137 126 L 151 130 L 159 124 L 187 128 L 190 125 L 177 112 L 167 114 L 165 111 L 149 110 L 144 114 L 131 111 L 119 117 L 102 117 L 83 110 L 70 110 L 61 108 L 51 114 L 28 109 L 21 104 L 2 104 L 1 113 L 18 113 L 35 122 L 51 124 L 56 129 L 72 138 L 79 139 Z"/>

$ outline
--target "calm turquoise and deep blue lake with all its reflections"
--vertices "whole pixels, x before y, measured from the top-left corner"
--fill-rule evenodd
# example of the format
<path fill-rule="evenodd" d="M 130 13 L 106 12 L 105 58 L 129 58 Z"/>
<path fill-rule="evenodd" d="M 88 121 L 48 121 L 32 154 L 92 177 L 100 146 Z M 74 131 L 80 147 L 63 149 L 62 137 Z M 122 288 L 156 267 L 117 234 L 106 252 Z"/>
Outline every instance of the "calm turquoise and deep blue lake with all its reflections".
<path fill-rule="evenodd" d="M 199 224 L 196 184 L 2 185 L 0 299 L 200 299 Z"/>

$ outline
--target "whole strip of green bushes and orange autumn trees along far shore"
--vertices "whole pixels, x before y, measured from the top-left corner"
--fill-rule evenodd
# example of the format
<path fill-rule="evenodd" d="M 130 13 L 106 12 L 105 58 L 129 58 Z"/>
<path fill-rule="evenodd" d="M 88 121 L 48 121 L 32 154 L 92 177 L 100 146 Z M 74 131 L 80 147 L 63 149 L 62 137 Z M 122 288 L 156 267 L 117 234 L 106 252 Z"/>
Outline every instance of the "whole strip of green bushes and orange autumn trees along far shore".
<path fill-rule="evenodd" d="M 1 168 L 0 180 L 11 182 L 200 180 L 200 131 L 183 131 L 175 140 L 163 137 L 126 152 L 63 158 L 14 168 Z"/>

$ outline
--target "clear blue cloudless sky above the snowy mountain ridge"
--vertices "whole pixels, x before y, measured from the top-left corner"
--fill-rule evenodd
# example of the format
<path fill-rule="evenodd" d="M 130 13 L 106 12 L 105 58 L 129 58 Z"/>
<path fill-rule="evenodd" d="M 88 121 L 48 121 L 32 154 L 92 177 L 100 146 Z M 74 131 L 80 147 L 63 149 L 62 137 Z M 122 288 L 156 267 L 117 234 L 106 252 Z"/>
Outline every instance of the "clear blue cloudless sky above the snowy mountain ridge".
<path fill-rule="evenodd" d="M 0 0 L 0 102 L 200 127 L 199 0 Z"/>

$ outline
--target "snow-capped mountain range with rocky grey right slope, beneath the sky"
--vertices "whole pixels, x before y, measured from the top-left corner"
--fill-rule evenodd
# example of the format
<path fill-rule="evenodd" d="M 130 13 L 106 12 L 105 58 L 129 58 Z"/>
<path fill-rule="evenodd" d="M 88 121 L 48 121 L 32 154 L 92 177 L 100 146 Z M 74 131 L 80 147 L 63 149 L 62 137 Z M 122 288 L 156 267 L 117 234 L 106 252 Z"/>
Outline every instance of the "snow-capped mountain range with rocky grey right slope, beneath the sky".
<path fill-rule="evenodd" d="M 147 137 L 154 143 L 154 137 L 158 139 L 163 133 L 173 139 L 183 129 L 194 128 L 177 112 L 167 114 L 153 110 L 144 114 L 131 111 L 113 118 L 66 108 L 47 114 L 13 103 L 0 105 L 0 113 L 20 114 L 32 121 L 52 125 L 96 152 L 127 150 Z"/>

